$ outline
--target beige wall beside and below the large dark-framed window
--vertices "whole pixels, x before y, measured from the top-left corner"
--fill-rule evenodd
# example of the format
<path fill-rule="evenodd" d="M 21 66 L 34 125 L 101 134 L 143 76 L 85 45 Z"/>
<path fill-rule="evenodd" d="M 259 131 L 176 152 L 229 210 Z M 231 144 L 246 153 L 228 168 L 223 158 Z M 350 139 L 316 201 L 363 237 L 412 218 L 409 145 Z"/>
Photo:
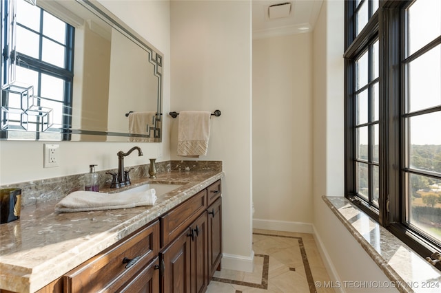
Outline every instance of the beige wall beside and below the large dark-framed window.
<path fill-rule="evenodd" d="M 389 279 L 321 198 L 344 194 L 343 16 L 343 1 L 324 1 L 314 30 L 314 228 L 334 280 L 387 282 Z M 397 292 L 393 288 L 342 289 Z"/>

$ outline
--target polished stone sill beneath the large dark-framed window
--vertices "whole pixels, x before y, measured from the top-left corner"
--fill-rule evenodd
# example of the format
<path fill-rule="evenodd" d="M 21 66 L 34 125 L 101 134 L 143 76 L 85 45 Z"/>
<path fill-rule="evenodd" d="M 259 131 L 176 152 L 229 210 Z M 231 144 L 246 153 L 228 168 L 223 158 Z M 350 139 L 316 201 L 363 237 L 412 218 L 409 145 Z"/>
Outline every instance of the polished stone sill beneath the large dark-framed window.
<path fill-rule="evenodd" d="M 441 272 L 409 246 L 345 197 L 322 199 L 400 292 L 440 292 Z"/>

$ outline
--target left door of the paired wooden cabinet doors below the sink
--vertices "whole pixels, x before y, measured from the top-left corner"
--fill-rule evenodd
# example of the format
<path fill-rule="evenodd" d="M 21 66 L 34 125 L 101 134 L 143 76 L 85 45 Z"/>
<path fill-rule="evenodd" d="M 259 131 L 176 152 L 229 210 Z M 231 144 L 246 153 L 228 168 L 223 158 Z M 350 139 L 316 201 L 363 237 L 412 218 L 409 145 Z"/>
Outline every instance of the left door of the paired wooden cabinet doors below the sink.
<path fill-rule="evenodd" d="M 163 261 L 161 292 L 190 292 L 191 235 L 192 230 L 188 229 L 159 254 L 161 261 Z"/>

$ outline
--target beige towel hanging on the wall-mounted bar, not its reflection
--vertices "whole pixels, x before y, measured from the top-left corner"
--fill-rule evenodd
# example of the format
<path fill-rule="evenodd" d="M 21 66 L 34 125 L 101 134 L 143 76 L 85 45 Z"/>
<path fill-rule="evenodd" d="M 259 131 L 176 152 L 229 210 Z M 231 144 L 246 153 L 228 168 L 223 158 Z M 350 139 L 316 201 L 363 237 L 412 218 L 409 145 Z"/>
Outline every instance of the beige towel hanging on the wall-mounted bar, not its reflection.
<path fill-rule="evenodd" d="M 209 118 L 207 111 L 181 111 L 178 124 L 178 155 L 207 155 Z"/>

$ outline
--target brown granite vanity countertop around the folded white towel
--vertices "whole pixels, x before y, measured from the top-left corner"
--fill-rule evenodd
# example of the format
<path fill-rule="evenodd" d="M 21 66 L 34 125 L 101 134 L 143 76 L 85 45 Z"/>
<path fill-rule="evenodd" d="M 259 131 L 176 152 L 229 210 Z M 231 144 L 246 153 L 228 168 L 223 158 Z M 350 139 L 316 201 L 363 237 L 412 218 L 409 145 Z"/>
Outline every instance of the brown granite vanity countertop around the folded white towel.
<path fill-rule="evenodd" d="M 154 206 L 55 213 L 59 199 L 54 199 L 22 208 L 19 220 L 0 225 L 0 288 L 39 290 L 223 175 L 222 171 L 171 171 L 159 173 L 155 180 L 133 180 L 129 188 L 145 183 L 182 185 L 158 196 Z"/>

